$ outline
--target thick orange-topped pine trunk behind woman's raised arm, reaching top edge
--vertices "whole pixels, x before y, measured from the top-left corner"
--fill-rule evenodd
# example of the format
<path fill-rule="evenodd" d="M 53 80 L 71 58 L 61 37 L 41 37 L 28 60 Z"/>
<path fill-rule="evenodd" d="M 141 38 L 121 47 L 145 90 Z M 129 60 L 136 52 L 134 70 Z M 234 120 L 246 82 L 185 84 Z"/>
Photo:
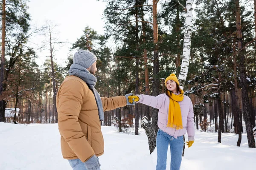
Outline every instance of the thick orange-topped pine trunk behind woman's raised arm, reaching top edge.
<path fill-rule="evenodd" d="M 158 59 L 158 24 L 157 24 L 157 0 L 153 0 L 153 37 L 154 37 L 154 67 L 153 67 L 153 87 L 152 95 L 159 95 L 160 80 L 158 78 L 159 72 L 159 59 Z M 155 133 L 157 134 L 158 126 L 158 109 L 152 108 L 152 125 L 154 127 Z"/>

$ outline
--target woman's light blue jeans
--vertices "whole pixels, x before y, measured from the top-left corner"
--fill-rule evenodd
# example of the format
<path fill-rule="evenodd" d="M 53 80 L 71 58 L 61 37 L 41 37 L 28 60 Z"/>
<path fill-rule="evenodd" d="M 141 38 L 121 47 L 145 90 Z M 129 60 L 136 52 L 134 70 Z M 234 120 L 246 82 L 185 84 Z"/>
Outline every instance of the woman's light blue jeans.
<path fill-rule="evenodd" d="M 157 132 L 157 167 L 156 170 L 166 170 L 168 145 L 171 151 L 171 170 L 180 170 L 183 151 L 183 136 L 175 139 L 163 130 Z"/>

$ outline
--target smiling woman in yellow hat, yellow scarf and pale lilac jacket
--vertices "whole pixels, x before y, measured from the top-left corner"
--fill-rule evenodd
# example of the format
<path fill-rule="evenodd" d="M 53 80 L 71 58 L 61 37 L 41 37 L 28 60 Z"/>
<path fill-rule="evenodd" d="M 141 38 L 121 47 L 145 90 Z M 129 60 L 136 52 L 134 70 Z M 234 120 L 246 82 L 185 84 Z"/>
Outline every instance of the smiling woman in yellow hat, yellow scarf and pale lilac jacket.
<path fill-rule="evenodd" d="M 175 74 L 165 80 L 166 93 L 158 96 L 129 96 L 129 102 L 139 102 L 159 109 L 157 125 L 157 166 L 166 170 L 168 145 L 171 151 L 171 170 L 180 170 L 183 151 L 183 135 L 188 133 L 190 147 L 194 143 L 194 112 L 188 96 L 183 95 Z"/>

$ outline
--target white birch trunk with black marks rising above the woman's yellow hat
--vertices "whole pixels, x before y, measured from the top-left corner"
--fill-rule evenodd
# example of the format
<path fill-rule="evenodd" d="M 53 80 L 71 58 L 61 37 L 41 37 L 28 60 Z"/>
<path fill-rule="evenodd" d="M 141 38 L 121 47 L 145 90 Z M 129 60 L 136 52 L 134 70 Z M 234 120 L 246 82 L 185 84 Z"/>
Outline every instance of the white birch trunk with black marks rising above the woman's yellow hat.
<path fill-rule="evenodd" d="M 186 22 L 185 22 L 185 34 L 184 34 L 184 43 L 183 43 L 183 55 L 182 55 L 182 64 L 179 74 L 180 88 L 183 89 L 186 77 L 189 70 L 189 55 L 191 49 L 191 34 L 192 34 L 192 4 L 194 0 L 186 1 Z"/>

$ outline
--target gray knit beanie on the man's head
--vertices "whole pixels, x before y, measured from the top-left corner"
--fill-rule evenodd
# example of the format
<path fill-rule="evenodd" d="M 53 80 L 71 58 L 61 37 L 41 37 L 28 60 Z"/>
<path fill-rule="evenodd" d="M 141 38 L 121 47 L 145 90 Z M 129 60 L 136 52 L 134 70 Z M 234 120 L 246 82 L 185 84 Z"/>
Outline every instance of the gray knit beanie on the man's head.
<path fill-rule="evenodd" d="M 85 50 L 77 51 L 73 57 L 74 64 L 81 65 L 84 68 L 89 68 L 96 60 L 97 57 L 93 53 Z"/>

